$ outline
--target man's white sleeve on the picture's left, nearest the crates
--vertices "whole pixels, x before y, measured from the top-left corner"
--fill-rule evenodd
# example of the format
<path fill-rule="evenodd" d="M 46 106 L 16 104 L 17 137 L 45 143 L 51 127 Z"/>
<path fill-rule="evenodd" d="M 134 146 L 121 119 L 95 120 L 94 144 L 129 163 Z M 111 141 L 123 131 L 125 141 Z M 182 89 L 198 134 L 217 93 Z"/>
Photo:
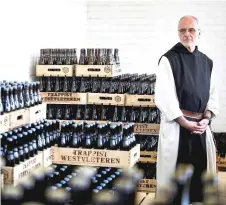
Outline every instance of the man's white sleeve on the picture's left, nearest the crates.
<path fill-rule="evenodd" d="M 161 58 L 156 71 L 155 104 L 168 121 L 183 116 L 176 94 L 173 72 L 165 56 Z"/>

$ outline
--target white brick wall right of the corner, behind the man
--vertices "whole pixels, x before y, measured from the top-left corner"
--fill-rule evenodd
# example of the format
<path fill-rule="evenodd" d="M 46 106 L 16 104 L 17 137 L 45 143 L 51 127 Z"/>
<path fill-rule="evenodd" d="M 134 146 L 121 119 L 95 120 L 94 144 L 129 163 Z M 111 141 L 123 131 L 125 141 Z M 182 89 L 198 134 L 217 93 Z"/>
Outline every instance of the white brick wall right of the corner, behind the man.
<path fill-rule="evenodd" d="M 88 45 L 120 48 L 124 72 L 153 73 L 158 59 L 178 42 L 177 23 L 191 14 L 200 20 L 199 48 L 214 61 L 220 115 L 214 131 L 226 131 L 226 2 L 88 0 Z M 170 103 L 170 102 L 169 102 Z"/>

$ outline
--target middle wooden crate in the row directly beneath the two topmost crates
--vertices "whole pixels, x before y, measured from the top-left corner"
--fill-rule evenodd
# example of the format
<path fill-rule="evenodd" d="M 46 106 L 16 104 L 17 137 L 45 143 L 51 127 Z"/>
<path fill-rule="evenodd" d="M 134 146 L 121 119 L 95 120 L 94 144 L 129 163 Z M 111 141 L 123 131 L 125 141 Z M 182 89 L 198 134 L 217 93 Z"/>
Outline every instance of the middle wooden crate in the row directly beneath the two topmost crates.
<path fill-rule="evenodd" d="M 125 95 L 108 93 L 88 93 L 87 103 L 123 106 L 125 104 Z"/>

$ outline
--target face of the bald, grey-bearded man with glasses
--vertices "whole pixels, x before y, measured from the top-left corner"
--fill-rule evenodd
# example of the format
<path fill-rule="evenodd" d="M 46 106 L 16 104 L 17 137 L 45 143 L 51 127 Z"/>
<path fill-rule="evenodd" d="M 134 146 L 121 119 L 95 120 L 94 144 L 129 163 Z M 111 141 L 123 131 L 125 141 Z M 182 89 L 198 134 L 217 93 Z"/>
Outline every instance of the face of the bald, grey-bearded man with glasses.
<path fill-rule="evenodd" d="M 196 20 L 192 17 L 183 18 L 178 25 L 178 35 L 180 42 L 185 47 L 194 47 L 200 35 Z"/>

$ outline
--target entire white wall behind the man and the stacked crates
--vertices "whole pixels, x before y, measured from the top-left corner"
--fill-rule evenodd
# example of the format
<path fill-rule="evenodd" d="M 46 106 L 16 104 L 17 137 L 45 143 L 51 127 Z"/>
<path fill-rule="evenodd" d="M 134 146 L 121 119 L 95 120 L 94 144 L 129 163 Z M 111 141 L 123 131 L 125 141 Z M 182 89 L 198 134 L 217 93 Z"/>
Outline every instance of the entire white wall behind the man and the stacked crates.
<path fill-rule="evenodd" d="M 200 19 L 199 47 L 218 76 L 221 110 L 213 128 L 226 131 L 226 1 L 0 1 L 0 80 L 33 77 L 40 48 L 118 47 L 124 72 L 153 73 L 178 41 L 185 14 Z"/>

